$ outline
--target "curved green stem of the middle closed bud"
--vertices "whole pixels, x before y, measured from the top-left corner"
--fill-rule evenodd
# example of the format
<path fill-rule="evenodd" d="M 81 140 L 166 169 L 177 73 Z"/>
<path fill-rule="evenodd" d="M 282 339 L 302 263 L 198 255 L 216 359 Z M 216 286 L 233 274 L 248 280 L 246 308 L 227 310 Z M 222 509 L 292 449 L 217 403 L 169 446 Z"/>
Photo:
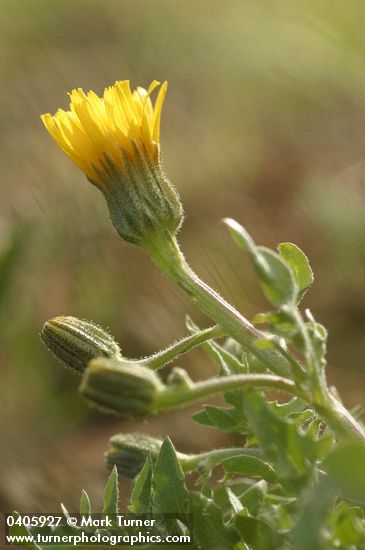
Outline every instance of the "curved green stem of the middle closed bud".
<path fill-rule="evenodd" d="M 194 403 L 203 397 L 225 393 L 237 389 L 265 388 L 284 391 L 308 400 L 308 396 L 300 391 L 295 383 L 288 378 L 273 374 L 236 374 L 210 378 L 195 384 L 172 384 L 167 386 L 157 397 L 156 412 L 174 409 L 182 405 Z"/>

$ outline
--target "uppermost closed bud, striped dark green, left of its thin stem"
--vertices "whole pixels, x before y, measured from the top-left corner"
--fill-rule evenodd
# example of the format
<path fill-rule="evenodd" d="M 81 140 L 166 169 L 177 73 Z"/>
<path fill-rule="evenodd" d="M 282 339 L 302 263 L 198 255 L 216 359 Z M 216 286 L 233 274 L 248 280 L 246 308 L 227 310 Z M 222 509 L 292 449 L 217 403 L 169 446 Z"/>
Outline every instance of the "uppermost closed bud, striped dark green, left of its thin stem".
<path fill-rule="evenodd" d="M 103 329 L 76 317 L 60 316 L 47 321 L 41 339 L 53 355 L 72 370 L 82 373 L 96 357 L 120 357 L 114 339 Z"/>

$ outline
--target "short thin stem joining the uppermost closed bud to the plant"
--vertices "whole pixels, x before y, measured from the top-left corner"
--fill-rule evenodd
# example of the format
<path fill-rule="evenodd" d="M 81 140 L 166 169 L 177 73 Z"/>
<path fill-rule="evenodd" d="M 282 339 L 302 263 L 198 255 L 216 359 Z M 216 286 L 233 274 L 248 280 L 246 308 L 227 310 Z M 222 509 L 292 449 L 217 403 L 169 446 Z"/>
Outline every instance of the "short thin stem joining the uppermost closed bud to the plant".
<path fill-rule="evenodd" d="M 225 331 L 219 325 L 215 325 L 214 327 L 209 327 L 205 330 L 201 330 L 195 334 L 187 336 L 186 338 L 180 340 L 180 342 L 176 342 L 175 344 L 172 344 L 168 348 L 159 351 L 154 355 L 150 355 L 145 359 L 136 360 L 135 362 L 139 365 L 157 370 L 164 367 L 168 363 L 171 363 L 171 361 L 176 359 L 176 357 L 186 353 L 192 348 L 199 346 L 208 340 L 220 338 L 222 336 L 225 336 Z"/>

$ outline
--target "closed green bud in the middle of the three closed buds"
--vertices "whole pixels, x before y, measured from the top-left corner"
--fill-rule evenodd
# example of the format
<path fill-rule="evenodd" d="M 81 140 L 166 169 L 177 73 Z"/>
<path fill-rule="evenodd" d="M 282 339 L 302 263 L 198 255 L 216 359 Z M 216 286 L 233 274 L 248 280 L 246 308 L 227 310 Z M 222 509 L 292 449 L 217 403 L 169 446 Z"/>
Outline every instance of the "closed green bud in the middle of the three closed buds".
<path fill-rule="evenodd" d="M 156 413 L 164 391 L 164 384 L 147 367 L 102 358 L 89 363 L 80 385 L 80 392 L 92 404 L 124 418 Z"/>

